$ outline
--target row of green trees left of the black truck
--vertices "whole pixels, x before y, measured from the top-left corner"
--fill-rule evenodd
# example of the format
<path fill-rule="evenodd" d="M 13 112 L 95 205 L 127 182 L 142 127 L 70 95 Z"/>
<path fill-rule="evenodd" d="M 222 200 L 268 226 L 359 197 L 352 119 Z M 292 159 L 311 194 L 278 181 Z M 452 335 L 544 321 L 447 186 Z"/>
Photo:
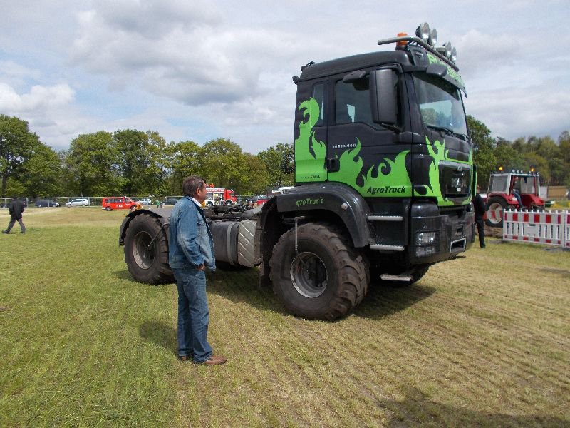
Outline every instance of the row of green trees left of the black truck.
<path fill-rule="evenodd" d="M 3 198 L 14 195 L 178 195 L 182 180 L 200 175 L 237 194 L 293 184 L 293 145 L 252 155 L 225 138 L 199 146 L 167 143 L 155 131 L 99 131 L 73 138 L 68 150 L 41 143 L 28 123 L 0 115 Z"/>

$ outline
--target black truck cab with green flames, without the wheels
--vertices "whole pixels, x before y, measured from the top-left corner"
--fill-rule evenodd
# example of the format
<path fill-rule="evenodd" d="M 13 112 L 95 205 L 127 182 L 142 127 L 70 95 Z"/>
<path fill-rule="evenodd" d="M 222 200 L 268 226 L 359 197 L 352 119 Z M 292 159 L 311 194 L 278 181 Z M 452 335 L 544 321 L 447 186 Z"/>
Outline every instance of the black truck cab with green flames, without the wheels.
<path fill-rule="evenodd" d="M 355 239 L 361 234 L 345 224 L 353 241 L 378 264 L 399 253 L 396 270 L 406 270 L 472 243 L 472 143 L 451 56 L 420 36 L 378 41 L 392 43 L 392 51 L 309 63 L 294 77 L 298 187 L 289 198 L 324 195 L 327 183 L 356 192 L 365 236 Z"/>

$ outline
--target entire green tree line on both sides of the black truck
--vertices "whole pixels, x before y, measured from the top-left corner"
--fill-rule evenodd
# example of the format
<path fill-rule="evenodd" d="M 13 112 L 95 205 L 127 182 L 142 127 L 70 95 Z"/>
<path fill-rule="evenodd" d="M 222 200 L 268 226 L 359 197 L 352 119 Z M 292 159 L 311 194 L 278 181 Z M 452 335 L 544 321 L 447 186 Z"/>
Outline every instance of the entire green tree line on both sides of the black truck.
<path fill-rule="evenodd" d="M 484 123 L 467 116 L 474 143 L 477 180 L 487 187 L 489 173 L 530 170 L 543 185 L 570 187 L 570 133 L 494 138 Z M 252 155 L 229 139 L 199 146 L 167 143 L 156 131 L 99 131 L 73 138 L 68 150 L 54 151 L 28 128 L 28 122 L 0 115 L 1 197 L 26 195 L 177 195 L 187 175 L 200 175 L 237 194 L 266 193 L 294 183 L 292 143 L 277 143 Z"/>

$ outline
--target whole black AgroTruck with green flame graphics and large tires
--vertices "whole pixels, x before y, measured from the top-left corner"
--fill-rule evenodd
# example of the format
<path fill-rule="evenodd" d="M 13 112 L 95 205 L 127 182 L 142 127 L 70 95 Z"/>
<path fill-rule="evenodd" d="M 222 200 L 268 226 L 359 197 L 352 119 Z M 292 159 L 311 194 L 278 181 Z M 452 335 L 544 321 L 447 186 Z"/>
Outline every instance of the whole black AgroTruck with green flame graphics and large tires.
<path fill-rule="evenodd" d="M 259 266 L 287 310 L 348 314 L 368 287 L 410 285 L 472 245 L 475 170 L 450 43 L 427 24 L 376 51 L 308 63 L 294 76 L 295 186 L 259 210 L 207 210 L 216 260 Z M 136 280 L 171 280 L 170 210 L 120 227 Z"/>

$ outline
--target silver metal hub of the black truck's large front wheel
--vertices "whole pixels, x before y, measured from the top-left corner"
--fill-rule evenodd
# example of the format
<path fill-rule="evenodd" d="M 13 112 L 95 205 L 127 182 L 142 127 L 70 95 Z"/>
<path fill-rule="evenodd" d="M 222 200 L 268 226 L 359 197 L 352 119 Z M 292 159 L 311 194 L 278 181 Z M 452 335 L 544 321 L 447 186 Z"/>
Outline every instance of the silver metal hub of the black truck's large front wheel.
<path fill-rule="evenodd" d="M 308 251 L 296 255 L 291 263 L 291 282 L 300 295 L 314 299 L 326 290 L 328 275 L 323 260 Z"/>

